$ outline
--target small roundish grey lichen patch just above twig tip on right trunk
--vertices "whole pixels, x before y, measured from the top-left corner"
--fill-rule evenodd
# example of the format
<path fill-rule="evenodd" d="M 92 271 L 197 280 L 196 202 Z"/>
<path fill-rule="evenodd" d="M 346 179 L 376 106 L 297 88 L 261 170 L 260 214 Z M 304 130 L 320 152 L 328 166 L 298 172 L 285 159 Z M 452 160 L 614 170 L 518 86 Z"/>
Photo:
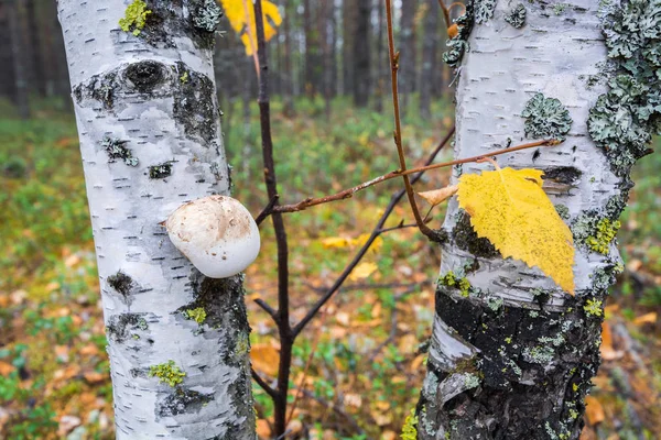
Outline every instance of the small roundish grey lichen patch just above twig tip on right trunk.
<path fill-rule="evenodd" d="M 535 94 L 521 112 L 525 118 L 525 136 L 564 141 L 572 128 L 570 111 L 555 98 Z"/>

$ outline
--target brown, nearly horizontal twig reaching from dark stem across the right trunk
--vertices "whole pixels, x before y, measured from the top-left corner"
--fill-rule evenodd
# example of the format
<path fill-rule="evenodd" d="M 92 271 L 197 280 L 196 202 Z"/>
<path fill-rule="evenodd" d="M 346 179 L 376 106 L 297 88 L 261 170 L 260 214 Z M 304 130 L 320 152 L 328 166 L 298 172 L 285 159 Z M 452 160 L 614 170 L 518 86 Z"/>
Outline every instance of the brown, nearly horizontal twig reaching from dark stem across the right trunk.
<path fill-rule="evenodd" d="M 351 197 L 354 197 L 354 194 L 356 194 L 362 189 L 369 188 L 370 186 L 375 186 L 382 182 L 398 178 L 401 176 L 408 176 L 411 174 L 425 172 L 429 169 L 443 168 L 443 167 L 453 166 L 453 165 L 466 164 L 469 162 L 478 162 L 478 161 L 481 161 L 484 157 L 494 157 L 494 156 L 498 156 L 500 154 L 512 153 L 512 152 L 525 150 L 525 148 L 533 148 L 535 146 L 556 145 L 557 143 L 559 142 L 556 140 L 542 140 L 542 141 L 530 142 L 530 143 L 522 144 L 522 145 L 511 146 L 509 148 L 497 150 L 495 152 L 480 154 L 479 156 L 459 158 L 456 161 L 443 162 L 443 163 L 433 164 L 433 165 L 419 166 L 419 167 L 407 169 L 403 172 L 397 169 L 397 170 L 390 172 L 388 174 L 383 174 L 379 177 L 375 177 L 371 180 L 364 182 L 362 184 L 356 185 L 355 187 L 344 189 L 339 193 L 335 193 L 329 196 L 316 197 L 316 198 L 308 197 L 304 200 L 299 201 L 297 204 L 274 206 L 272 209 L 272 212 L 297 212 L 297 211 L 302 211 L 302 210 L 307 209 L 313 206 L 351 198 Z"/>

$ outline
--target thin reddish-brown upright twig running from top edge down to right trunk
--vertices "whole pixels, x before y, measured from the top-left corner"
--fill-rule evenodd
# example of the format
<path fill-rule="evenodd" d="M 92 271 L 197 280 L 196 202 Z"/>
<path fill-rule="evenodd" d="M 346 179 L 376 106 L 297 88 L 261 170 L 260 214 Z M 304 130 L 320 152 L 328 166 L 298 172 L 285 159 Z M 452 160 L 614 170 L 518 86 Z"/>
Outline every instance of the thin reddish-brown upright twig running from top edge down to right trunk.
<path fill-rule="evenodd" d="M 404 148 L 402 146 L 402 127 L 401 127 L 401 117 L 399 110 L 399 92 L 397 86 L 397 74 L 399 70 L 399 52 L 394 53 L 394 37 L 392 36 L 392 4 L 391 0 L 386 0 L 386 24 L 388 26 L 388 50 L 390 54 L 390 80 L 392 85 L 392 109 L 394 111 L 394 145 L 397 146 L 397 154 L 400 163 L 400 170 L 407 170 L 407 158 L 404 156 Z M 418 210 L 418 204 L 415 202 L 415 196 L 413 195 L 413 187 L 411 186 L 411 182 L 409 180 L 409 176 L 402 174 L 402 179 L 404 180 L 404 188 L 407 189 L 407 197 L 409 199 L 409 205 L 411 205 L 411 211 L 413 211 L 413 217 L 415 218 L 415 223 L 418 223 L 418 229 L 420 232 L 425 234 L 433 241 L 437 241 L 436 233 L 424 222 L 422 221 L 422 217 L 420 216 L 420 211 Z"/>

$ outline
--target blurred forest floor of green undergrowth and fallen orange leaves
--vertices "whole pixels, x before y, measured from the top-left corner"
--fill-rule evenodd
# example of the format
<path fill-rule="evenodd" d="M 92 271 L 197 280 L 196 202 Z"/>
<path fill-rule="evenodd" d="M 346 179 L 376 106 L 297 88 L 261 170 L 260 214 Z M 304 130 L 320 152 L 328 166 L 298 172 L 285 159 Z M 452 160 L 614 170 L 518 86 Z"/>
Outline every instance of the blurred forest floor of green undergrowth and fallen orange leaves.
<path fill-rule="evenodd" d="M 321 101 L 296 105 L 292 119 L 281 116 L 279 102 L 273 106 L 283 202 L 334 193 L 397 167 L 389 112 L 358 111 L 338 100 L 327 118 Z M 259 212 L 267 197 L 257 110 L 243 124 L 239 107 L 224 109 L 234 195 Z M 414 112 L 404 120 L 410 164 L 421 163 L 452 123 L 447 105 L 434 110 L 433 122 L 420 122 Z M 112 392 L 75 122 L 53 110 L 20 121 L 0 109 L 0 438 L 112 439 Z M 626 271 L 606 307 L 603 364 L 588 397 L 585 440 L 661 438 L 660 167 L 657 153 L 636 168 L 637 186 L 618 235 Z M 430 173 L 418 189 L 445 186 L 447 176 Z M 400 184 L 391 180 L 285 217 L 294 320 L 342 272 Z M 443 209 L 432 215 L 438 227 Z M 411 217 L 402 202 L 387 226 Z M 253 364 L 269 377 L 277 373 L 277 332 L 253 300 L 274 304 L 275 246 L 270 222 L 262 229 L 263 248 L 247 271 L 246 288 Z M 288 438 L 399 438 L 425 373 L 419 344 L 431 333 L 438 264 L 438 250 L 414 229 L 382 235 L 296 342 L 290 402 L 299 388 L 301 396 Z M 257 386 L 254 396 L 258 430 L 268 439 L 272 408 Z"/>

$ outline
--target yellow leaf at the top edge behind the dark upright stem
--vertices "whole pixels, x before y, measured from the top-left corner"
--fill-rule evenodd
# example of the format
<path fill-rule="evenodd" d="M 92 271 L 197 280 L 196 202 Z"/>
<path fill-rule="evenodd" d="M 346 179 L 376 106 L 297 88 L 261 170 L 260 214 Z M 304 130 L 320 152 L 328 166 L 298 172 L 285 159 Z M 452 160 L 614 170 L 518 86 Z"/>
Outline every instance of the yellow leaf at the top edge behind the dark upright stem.
<path fill-rule="evenodd" d="M 252 0 L 220 0 L 220 3 L 231 29 L 240 35 L 241 42 L 246 46 L 246 55 L 251 56 L 257 51 L 257 29 L 254 28 Z M 278 32 L 275 28 L 282 23 L 282 16 L 280 16 L 278 7 L 268 0 L 262 1 L 262 14 L 264 38 L 269 41 Z M 250 23 L 249 26 L 248 23 Z"/>

